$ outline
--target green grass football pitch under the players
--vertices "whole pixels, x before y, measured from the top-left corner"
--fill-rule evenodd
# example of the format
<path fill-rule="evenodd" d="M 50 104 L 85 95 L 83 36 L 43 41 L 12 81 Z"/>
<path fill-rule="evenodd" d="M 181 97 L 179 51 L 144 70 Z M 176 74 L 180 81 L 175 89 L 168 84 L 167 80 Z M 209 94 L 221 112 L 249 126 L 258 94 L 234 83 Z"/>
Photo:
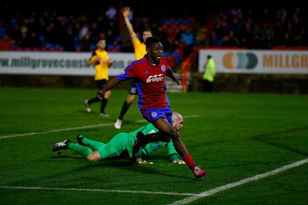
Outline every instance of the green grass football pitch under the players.
<path fill-rule="evenodd" d="M 189 197 L 174 193 L 199 194 L 308 158 L 308 96 L 280 94 L 167 94 L 172 111 L 184 116 L 181 140 L 207 171 L 201 179 L 186 165 L 172 165 L 165 148 L 146 158 L 153 165 L 52 152 L 53 144 L 80 133 L 107 142 L 146 124 L 135 101 L 122 129 L 114 129 L 128 91 L 112 91 L 110 117 L 98 115 L 99 104 L 86 113 L 84 100 L 95 91 L 0 88 L 0 204 L 169 204 Z M 100 124 L 109 125 L 62 131 Z M 305 163 L 190 204 L 308 204 L 307 170 Z"/>

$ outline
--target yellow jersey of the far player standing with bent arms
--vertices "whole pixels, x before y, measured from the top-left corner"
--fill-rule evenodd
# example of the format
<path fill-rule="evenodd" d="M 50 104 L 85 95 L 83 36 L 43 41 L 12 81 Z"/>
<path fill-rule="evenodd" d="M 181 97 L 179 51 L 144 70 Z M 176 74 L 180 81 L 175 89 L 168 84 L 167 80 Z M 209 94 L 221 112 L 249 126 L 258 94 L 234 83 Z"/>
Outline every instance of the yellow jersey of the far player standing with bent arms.
<path fill-rule="evenodd" d="M 92 57 L 90 58 L 90 60 L 93 60 L 97 57 L 101 57 L 101 59 L 100 59 L 100 64 L 95 65 L 95 71 L 96 72 L 95 72 L 94 79 L 95 80 L 103 80 L 103 79 L 108 80 L 109 76 L 108 76 L 107 61 L 109 60 L 109 56 L 108 56 L 107 51 L 105 51 L 105 50 L 100 51 L 99 49 L 95 50 L 92 53 Z"/>

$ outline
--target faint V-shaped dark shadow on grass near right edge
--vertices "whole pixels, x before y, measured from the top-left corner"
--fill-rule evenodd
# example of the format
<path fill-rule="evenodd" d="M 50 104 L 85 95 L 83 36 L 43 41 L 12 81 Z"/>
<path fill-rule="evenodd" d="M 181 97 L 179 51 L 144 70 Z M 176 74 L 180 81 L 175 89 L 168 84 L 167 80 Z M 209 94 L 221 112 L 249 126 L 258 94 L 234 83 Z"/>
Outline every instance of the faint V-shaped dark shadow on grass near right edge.
<path fill-rule="evenodd" d="M 270 138 L 270 137 L 275 136 L 275 135 L 292 133 L 292 132 L 297 132 L 297 131 L 305 131 L 305 130 L 307 130 L 307 132 L 308 132 L 308 127 L 307 126 L 293 128 L 293 129 L 287 129 L 287 130 L 281 130 L 281 131 L 276 131 L 276 132 L 270 132 L 270 133 L 265 133 L 265 134 L 260 134 L 260 135 L 255 135 L 255 136 L 252 136 L 251 138 L 253 140 L 263 142 L 263 143 L 265 143 L 267 145 L 271 145 L 271 146 L 282 148 L 282 149 L 285 149 L 285 150 L 288 150 L 288 151 L 291 151 L 291 152 L 295 152 L 297 154 L 308 156 L 308 153 L 300 151 L 300 150 L 298 150 L 298 148 L 288 147 L 288 146 L 283 145 L 283 144 L 281 144 L 279 142 L 274 142 L 274 141 L 272 141 L 273 138 Z"/>

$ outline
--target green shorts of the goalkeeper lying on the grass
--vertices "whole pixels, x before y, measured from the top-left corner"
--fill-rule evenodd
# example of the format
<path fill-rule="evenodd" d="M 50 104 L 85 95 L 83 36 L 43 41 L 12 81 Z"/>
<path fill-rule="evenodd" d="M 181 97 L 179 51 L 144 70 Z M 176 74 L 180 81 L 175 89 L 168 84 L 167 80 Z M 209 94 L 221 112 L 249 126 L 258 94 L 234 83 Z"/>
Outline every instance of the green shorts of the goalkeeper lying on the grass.
<path fill-rule="evenodd" d="M 128 133 L 115 135 L 106 145 L 98 149 L 101 159 L 120 156 L 125 150 L 127 150 L 128 155 L 132 158 L 132 146 L 136 140 L 136 136 Z"/>

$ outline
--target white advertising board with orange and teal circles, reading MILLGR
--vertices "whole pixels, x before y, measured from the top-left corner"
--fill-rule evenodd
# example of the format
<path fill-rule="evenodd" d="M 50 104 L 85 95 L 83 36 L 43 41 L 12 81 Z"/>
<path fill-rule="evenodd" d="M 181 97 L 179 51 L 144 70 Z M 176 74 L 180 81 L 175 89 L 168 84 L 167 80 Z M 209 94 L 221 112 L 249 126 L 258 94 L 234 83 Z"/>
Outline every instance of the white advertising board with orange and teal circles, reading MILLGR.
<path fill-rule="evenodd" d="M 216 63 L 217 73 L 308 74 L 308 51 L 200 49 L 199 72 L 207 55 Z"/>

